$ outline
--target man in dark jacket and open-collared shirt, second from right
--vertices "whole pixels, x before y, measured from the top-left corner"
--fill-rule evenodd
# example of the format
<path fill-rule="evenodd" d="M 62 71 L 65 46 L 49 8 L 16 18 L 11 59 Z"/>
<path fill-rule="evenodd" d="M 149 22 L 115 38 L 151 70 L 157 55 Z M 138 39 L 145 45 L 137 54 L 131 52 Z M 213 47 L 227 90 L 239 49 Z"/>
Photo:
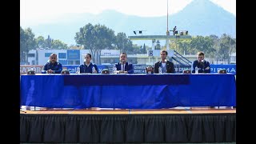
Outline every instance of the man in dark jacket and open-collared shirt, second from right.
<path fill-rule="evenodd" d="M 162 73 L 175 73 L 174 63 L 166 59 L 168 52 L 166 50 L 161 50 L 160 54 L 161 61 L 154 64 L 154 74 L 159 73 L 159 67 L 162 68 Z"/>

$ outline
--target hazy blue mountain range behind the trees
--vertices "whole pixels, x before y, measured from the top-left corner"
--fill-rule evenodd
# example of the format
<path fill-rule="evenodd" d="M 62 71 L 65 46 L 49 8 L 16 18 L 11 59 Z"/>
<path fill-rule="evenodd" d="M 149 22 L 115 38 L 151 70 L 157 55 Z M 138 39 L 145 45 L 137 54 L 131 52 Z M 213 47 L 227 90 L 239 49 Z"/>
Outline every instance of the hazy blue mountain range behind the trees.
<path fill-rule="evenodd" d="M 168 19 L 169 30 L 177 26 L 177 30 L 188 30 L 191 36 L 215 34 L 221 37 L 222 34 L 229 34 L 232 38 L 236 38 L 234 14 L 210 0 L 194 0 L 178 13 L 169 14 Z M 134 30 L 143 30 L 143 35 L 165 35 L 166 20 L 167 16 L 139 17 L 105 10 L 101 14 L 66 14 L 50 24 L 30 26 L 30 28 L 36 37 L 42 35 L 47 38 L 50 35 L 50 38 L 75 45 L 75 33 L 89 22 L 93 25 L 105 25 L 114 30 L 115 34 L 124 32 L 126 36 L 131 36 L 134 35 Z M 137 42 L 137 44 L 142 43 Z"/>

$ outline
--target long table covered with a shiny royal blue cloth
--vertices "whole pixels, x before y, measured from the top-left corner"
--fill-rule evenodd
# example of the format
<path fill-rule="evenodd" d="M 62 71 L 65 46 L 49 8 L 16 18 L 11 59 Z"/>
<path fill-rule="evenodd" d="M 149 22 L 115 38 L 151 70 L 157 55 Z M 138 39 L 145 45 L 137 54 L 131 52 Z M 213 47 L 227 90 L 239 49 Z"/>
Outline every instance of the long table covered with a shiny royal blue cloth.
<path fill-rule="evenodd" d="M 21 106 L 236 106 L 234 74 L 24 74 L 20 86 Z"/>

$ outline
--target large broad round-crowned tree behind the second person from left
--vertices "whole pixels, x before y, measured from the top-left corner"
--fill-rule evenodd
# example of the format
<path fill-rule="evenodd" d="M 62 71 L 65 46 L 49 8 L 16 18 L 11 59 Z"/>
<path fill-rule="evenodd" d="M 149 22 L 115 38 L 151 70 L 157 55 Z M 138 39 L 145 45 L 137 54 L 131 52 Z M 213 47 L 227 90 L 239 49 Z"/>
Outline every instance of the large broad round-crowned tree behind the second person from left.
<path fill-rule="evenodd" d="M 113 49 L 115 43 L 114 30 L 97 24 L 93 26 L 88 23 L 79 29 L 76 33 L 75 42 L 90 50 L 93 62 L 100 64 L 100 54 L 102 49 Z"/>

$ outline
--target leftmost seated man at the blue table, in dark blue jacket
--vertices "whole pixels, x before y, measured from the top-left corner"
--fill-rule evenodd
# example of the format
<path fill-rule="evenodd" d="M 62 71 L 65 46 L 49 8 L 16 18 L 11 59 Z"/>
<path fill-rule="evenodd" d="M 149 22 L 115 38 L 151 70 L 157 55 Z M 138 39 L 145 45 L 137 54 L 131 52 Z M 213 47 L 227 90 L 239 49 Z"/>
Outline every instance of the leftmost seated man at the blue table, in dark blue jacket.
<path fill-rule="evenodd" d="M 61 74 L 62 64 L 57 62 L 57 54 L 50 54 L 49 62 L 43 66 L 42 74 Z"/>

